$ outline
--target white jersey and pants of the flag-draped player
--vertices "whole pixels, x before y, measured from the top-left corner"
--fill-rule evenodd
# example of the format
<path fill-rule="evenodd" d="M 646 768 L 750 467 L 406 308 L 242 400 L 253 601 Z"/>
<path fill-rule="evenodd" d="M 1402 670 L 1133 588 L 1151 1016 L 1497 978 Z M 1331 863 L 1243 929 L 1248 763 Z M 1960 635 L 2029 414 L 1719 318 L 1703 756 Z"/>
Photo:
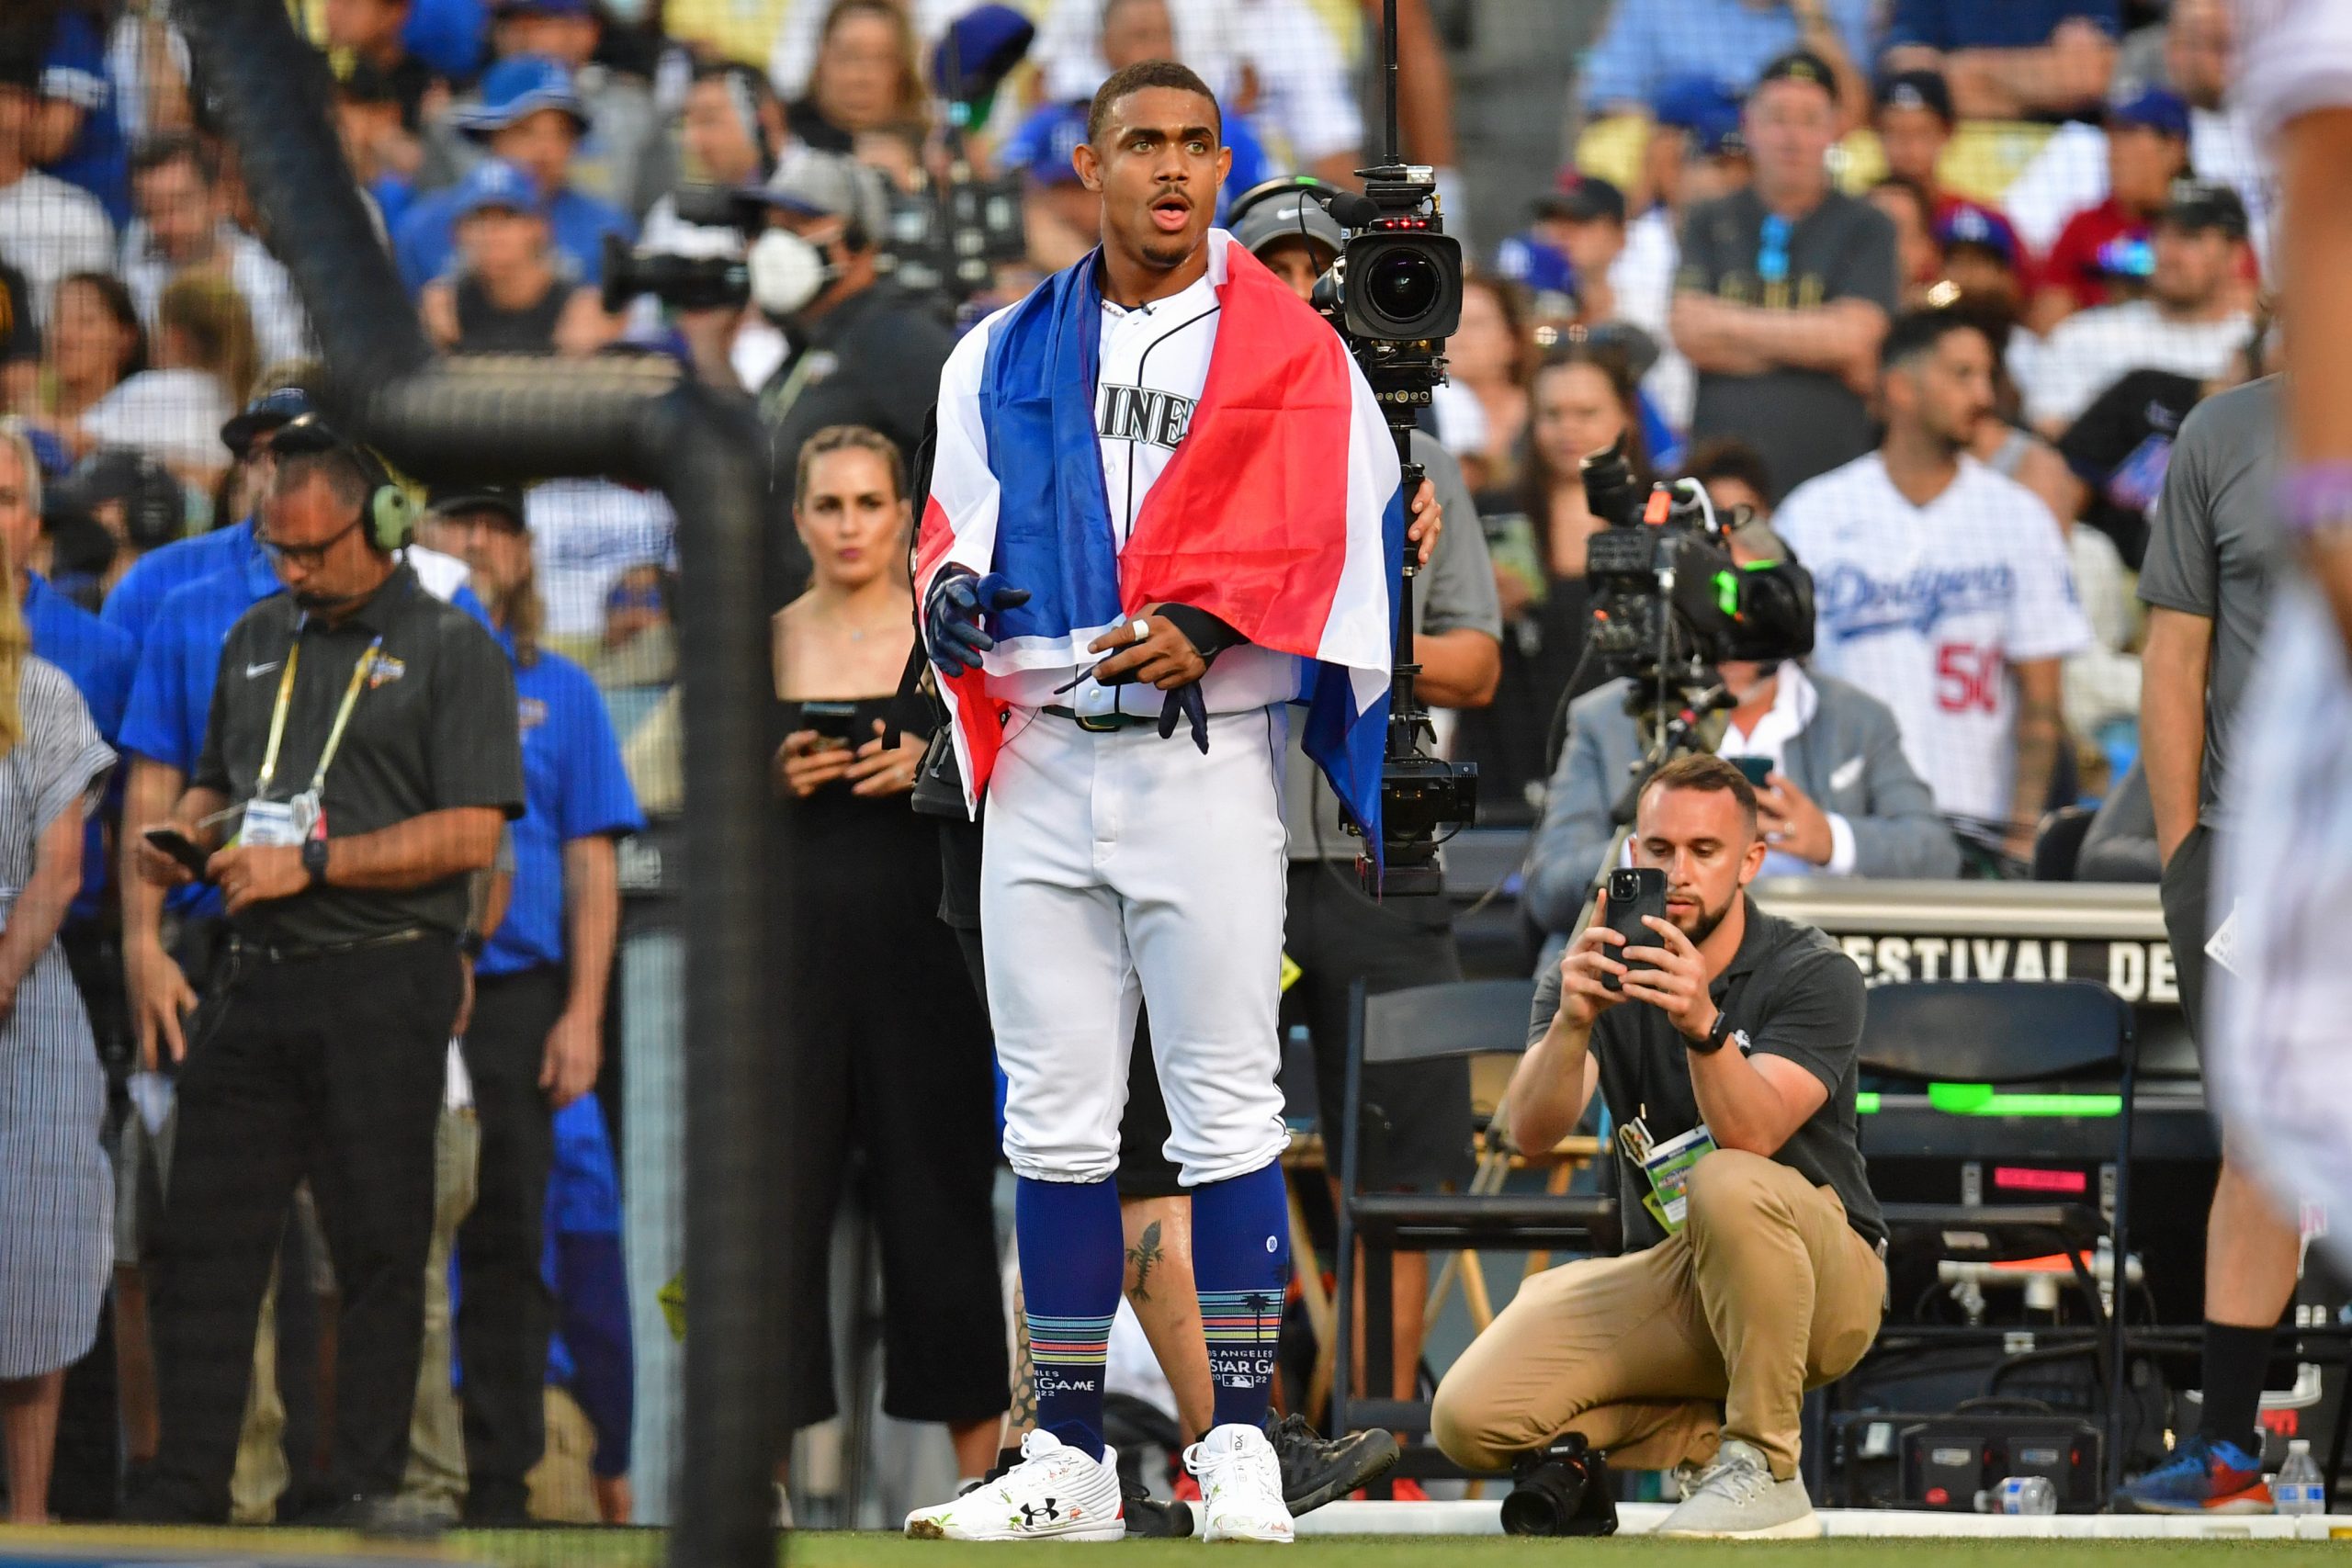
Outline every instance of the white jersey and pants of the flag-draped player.
<path fill-rule="evenodd" d="M 1096 435 L 1120 548 L 1183 442 L 1216 346 L 1223 252 L 1190 289 L 1103 306 Z M 941 444 L 985 456 L 981 322 L 948 360 Z M 950 428 L 953 425 L 953 428 Z M 1011 646 L 1011 644 L 1007 644 Z M 1011 705 L 988 780 L 981 929 L 1004 1157 L 1037 1180 L 1105 1180 L 1120 1161 L 1127 1053 L 1150 1001 L 1169 1103 L 1167 1157 L 1190 1185 L 1247 1175 L 1282 1152 L 1275 1086 L 1284 837 L 1284 703 L 1301 663 L 1235 646 L 1202 679 L 1209 752 L 1178 729 L 1080 729 L 1042 712 L 1157 719 L 1148 684 L 1080 684 L 1075 665 L 990 675 Z"/>

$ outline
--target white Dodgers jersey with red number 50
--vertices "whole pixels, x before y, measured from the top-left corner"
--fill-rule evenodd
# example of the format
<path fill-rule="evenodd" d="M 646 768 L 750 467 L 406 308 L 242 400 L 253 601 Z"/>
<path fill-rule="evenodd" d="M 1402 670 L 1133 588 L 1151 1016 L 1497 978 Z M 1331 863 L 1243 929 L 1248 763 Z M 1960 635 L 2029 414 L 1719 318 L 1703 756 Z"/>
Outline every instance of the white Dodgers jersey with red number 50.
<path fill-rule="evenodd" d="M 1773 529 L 1813 574 L 1813 668 L 1896 712 L 1945 816 L 2009 823 L 2009 665 L 2091 642 L 2058 520 L 1976 458 L 1912 505 L 1870 454 L 1799 484 Z"/>

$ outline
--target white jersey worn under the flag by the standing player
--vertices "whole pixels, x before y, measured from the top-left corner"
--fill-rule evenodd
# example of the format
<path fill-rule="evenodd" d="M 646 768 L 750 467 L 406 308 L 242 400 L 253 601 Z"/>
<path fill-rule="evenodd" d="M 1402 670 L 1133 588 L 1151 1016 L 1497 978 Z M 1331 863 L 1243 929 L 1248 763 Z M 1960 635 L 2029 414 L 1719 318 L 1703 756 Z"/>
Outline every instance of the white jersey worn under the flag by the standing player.
<path fill-rule="evenodd" d="M 1223 249 L 1211 247 L 1211 268 L 1190 289 L 1136 308 L 1103 301 L 1094 430 L 1103 458 L 1110 529 L 1122 550 L 1143 512 L 1143 498 L 1152 494 L 1152 484 L 1167 473 L 1192 428 L 1192 409 L 1200 407 L 1200 393 L 1209 381 L 1209 355 L 1216 348 L 1218 282 L 1223 282 Z M 988 339 L 1009 310 L 997 310 L 955 346 L 941 376 L 943 414 L 953 390 L 967 395 L 957 400 L 962 407 L 976 407 Z M 971 437 L 985 454 L 985 433 L 974 428 Z M 1279 501 L 1268 498 L 1268 503 Z M 1089 715 L 1124 710 L 1160 717 L 1167 696 L 1143 682 L 1127 686 L 1082 682 L 1056 693 L 1056 686 L 1068 684 L 1080 668 L 1084 665 L 990 675 L 988 693 L 1016 708 L 1063 705 Z M 1209 712 L 1247 712 L 1289 703 L 1298 696 L 1298 658 L 1242 644 L 1218 654 L 1202 679 L 1202 698 Z"/>

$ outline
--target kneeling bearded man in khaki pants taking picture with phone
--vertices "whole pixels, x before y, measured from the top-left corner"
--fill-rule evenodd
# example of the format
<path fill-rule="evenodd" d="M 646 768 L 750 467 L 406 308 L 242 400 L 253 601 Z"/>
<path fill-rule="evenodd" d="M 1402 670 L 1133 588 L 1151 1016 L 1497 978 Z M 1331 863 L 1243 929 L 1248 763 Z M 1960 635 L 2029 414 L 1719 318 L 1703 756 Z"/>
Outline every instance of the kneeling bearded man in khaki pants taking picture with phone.
<path fill-rule="evenodd" d="M 1886 1298 L 1886 1225 L 1856 1145 L 1863 976 L 1813 926 L 1748 900 L 1766 846 L 1755 790 L 1722 757 L 1658 769 L 1632 844 L 1637 867 L 1665 872 L 1665 919 L 1625 940 L 1602 900 L 1536 990 L 1508 1095 L 1512 1143 L 1548 1150 L 1602 1093 L 1628 1251 L 1519 1286 L 1437 1387 L 1432 1434 L 1472 1469 L 1526 1472 L 1559 1443 L 1564 1514 L 1606 1497 L 1606 1455 L 1708 1465 L 1658 1535 L 1820 1535 L 1797 1479 L 1799 1403 L 1860 1361 Z M 1651 1178 L 1630 1150 L 1696 1128 L 1712 1150 L 1686 1168 L 1668 1234 L 1637 1201 Z"/>

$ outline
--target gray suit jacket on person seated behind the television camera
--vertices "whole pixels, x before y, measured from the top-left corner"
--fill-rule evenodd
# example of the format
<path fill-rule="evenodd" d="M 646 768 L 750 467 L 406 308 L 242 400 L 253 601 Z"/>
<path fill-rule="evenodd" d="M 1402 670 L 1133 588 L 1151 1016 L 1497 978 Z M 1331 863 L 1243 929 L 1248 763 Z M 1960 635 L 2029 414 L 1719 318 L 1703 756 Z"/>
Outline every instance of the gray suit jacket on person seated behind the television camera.
<path fill-rule="evenodd" d="M 1936 795 L 1903 759 L 1896 715 L 1858 686 L 1806 670 L 1818 698 L 1813 722 L 1785 748 L 1783 771 L 1853 827 L 1856 877 L 1957 877 L 1959 844 L 1936 813 Z M 1543 827 L 1526 867 L 1526 912 L 1538 926 L 1576 926 L 1613 827 L 1609 809 L 1642 759 L 1625 712 L 1625 682 L 1609 682 L 1569 705 L 1569 743 L 1543 802 Z"/>

